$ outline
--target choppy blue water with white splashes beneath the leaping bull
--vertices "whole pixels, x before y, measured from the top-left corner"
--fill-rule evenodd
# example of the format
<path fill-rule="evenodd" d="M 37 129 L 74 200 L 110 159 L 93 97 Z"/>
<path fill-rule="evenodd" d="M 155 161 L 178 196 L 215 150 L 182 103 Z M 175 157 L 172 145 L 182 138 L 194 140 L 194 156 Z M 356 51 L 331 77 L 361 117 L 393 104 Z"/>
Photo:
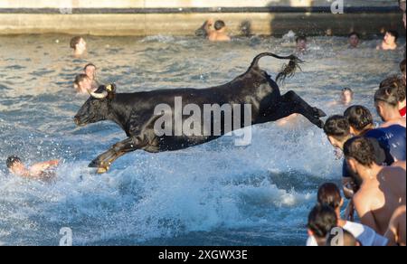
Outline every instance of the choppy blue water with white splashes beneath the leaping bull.
<path fill-rule="evenodd" d="M 341 174 L 326 137 L 306 120 L 254 127 L 246 147 L 225 137 L 175 153 L 135 152 L 103 175 L 87 165 L 124 133 L 109 122 L 79 128 L 72 121 L 86 97 L 75 96 L 71 81 L 89 61 L 119 92 L 205 88 L 246 71 L 260 52 L 291 53 L 292 40 L 89 37 L 89 57 L 74 60 L 69 39 L 0 37 L 0 244 L 58 245 L 62 227 L 75 245 L 305 243 L 318 185 Z M 374 110 L 374 89 L 397 73 L 402 57 L 375 51 L 375 43 L 349 51 L 344 38 L 312 39 L 303 71 L 281 90 L 334 114 L 344 108 L 327 104 L 351 87 L 355 103 Z M 275 76 L 282 61 L 261 66 Z M 43 184 L 8 174 L 1 161 L 12 154 L 28 164 L 63 162 L 55 182 Z"/>

